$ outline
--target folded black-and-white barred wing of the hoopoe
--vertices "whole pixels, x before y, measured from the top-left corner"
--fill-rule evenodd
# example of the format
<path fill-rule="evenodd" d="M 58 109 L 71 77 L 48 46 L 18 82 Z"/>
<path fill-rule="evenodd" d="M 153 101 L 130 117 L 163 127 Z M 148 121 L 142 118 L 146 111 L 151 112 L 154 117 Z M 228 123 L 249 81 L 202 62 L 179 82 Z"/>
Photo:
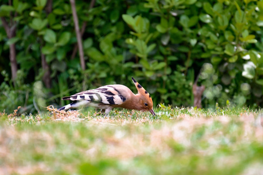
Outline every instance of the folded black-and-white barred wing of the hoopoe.
<path fill-rule="evenodd" d="M 127 87 L 123 85 L 107 85 L 100 88 L 79 92 L 68 97 L 62 97 L 62 100 L 80 100 L 107 105 L 121 105 L 127 100 L 127 95 L 122 93 L 123 89 L 125 88 Z"/>

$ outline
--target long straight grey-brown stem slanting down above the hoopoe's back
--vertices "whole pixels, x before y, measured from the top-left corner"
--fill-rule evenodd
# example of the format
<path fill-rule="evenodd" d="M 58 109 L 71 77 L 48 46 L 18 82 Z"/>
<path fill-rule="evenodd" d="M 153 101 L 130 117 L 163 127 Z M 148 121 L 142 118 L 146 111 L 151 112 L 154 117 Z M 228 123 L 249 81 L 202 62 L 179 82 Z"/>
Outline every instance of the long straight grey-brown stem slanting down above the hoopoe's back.
<path fill-rule="evenodd" d="M 75 0 L 70 0 L 70 3 L 71 3 L 72 15 L 73 15 L 73 20 L 74 20 L 74 25 L 75 25 L 75 33 L 77 37 L 80 65 L 81 65 L 82 70 L 85 70 L 86 66 L 85 66 L 85 60 L 84 60 L 82 39 L 81 39 L 80 31 L 79 31 L 78 18 L 76 14 Z"/>

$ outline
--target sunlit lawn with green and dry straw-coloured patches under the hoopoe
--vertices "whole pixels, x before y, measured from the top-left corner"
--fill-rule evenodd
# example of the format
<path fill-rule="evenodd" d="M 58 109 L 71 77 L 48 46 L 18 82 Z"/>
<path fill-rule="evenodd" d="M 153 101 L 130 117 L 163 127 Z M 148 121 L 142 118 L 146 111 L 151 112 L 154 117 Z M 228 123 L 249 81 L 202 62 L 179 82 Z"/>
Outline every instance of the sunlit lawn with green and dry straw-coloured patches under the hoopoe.
<path fill-rule="evenodd" d="M 263 174 L 263 110 L 0 113 L 0 174 Z"/>

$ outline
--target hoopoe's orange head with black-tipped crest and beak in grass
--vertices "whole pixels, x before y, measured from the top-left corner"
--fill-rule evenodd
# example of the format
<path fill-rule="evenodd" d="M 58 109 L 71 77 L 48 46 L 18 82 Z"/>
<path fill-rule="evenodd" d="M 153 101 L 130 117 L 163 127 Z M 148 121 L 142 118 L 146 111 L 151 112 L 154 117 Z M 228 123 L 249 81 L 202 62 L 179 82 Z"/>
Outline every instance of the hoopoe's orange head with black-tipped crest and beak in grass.
<path fill-rule="evenodd" d="M 155 112 L 153 111 L 153 103 L 150 97 L 150 94 L 133 78 L 131 77 L 135 87 L 138 90 L 138 94 L 140 95 L 139 104 L 137 104 L 142 111 L 150 111 L 150 113 L 155 116 Z"/>

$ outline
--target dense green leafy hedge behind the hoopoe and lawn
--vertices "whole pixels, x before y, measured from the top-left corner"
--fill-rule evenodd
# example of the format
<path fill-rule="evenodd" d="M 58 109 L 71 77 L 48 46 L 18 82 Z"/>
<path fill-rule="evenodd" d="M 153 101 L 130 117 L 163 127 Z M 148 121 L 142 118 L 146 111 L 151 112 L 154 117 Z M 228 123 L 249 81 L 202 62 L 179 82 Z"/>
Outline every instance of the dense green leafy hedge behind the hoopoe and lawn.
<path fill-rule="evenodd" d="M 262 0 L 1 0 L 0 17 L 0 111 L 131 76 L 154 105 L 193 105 L 196 79 L 203 107 L 263 104 Z"/>

